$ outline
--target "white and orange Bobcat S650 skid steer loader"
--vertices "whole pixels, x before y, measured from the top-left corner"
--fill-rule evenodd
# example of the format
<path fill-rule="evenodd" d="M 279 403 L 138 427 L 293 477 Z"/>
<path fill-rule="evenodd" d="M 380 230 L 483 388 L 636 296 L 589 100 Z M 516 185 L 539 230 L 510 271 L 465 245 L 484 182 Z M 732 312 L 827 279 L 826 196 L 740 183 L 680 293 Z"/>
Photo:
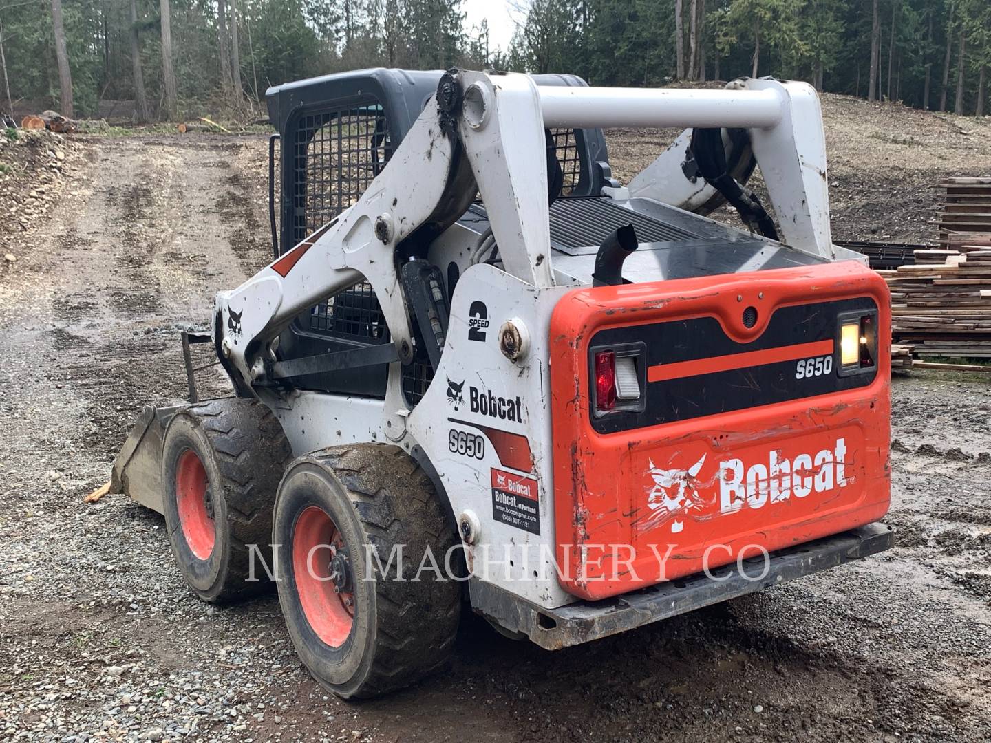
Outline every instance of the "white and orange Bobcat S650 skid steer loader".
<path fill-rule="evenodd" d="M 557 649 L 891 547 L 889 297 L 831 242 L 810 86 L 376 69 L 268 103 L 274 260 L 114 485 L 203 599 L 275 582 L 324 687 L 437 668 L 466 595 Z M 621 185 L 606 127 L 685 131 Z M 192 342 L 234 396 L 195 401 Z"/>

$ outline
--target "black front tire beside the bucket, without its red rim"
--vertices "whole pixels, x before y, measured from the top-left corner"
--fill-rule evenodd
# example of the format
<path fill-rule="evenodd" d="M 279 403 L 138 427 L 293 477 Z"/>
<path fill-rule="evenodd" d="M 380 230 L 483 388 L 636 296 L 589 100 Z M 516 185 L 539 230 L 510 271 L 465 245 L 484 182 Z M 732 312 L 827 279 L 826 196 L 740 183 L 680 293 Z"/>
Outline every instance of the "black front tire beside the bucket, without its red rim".
<path fill-rule="evenodd" d="M 192 450 L 206 471 L 216 541 L 207 559 L 193 554 L 179 522 L 176 466 Z M 258 400 L 225 397 L 184 407 L 168 421 L 162 454 L 165 526 L 186 583 L 204 601 L 222 603 L 272 587 L 275 492 L 292 460 L 273 412 Z M 250 545 L 257 545 L 252 568 Z M 252 579 L 254 573 L 254 580 Z"/>

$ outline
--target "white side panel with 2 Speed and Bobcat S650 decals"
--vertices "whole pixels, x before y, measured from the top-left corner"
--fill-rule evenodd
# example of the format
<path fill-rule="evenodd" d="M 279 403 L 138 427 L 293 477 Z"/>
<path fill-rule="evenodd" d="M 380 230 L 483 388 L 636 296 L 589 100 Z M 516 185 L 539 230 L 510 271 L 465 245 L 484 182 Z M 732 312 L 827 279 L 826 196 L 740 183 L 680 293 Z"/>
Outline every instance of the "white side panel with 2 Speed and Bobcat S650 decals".
<path fill-rule="evenodd" d="M 548 328 L 554 305 L 567 290 L 538 290 L 491 265 L 476 265 L 466 271 L 451 306 L 451 325 L 440 369 L 407 424 L 409 437 L 437 470 L 454 513 L 472 510 L 482 523 L 479 540 L 468 548 L 477 566 L 484 562 L 486 550 L 493 560 L 503 560 L 502 551 L 508 546 L 513 565 L 490 566 L 489 580 L 548 607 L 575 600 L 558 584 L 555 569 L 548 562 L 555 545 Z M 485 299 L 489 310 L 490 325 L 484 342 L 468 337 L 469 308 L 478 298 Z M 499 326 L 513 318 L 525 326 L 531 344 L 526 358 L 516 364 L 502 355 L 498 340 Z M 458 410 L 447 397 L 448 379 L 465 384 L 465 401 Z M 473 413 L 471 386 L 501 397 L 519 395 L 522 422 Z M 491 442 L 487 442 L 481 461 L 451 453 L 448 437 L 452 428 L 478 432 L 471 426 L 452 423 L 452 418 L 523 434 L 529 440 L 534 463 L 529 475 L 539 484 L 539 536 L 493 518 L 491 470 L 508 468 L 499 463 Z"/>

